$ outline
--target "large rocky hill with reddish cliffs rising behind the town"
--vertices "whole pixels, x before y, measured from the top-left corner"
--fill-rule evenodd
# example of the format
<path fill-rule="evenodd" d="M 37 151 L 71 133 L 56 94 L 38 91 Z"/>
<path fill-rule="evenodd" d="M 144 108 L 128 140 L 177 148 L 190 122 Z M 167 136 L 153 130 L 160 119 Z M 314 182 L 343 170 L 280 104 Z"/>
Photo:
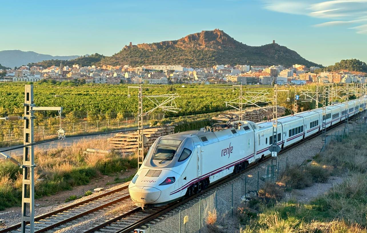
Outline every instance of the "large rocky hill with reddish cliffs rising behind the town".
<path fill-rule="evenodd" d="M 250 46 L 222 30 L 201 31 L 179 40 L 126 45 L 120 52 L 103 58 L 98 65 L 182 65 L 208 67 L 218 64 L 320 66 L 279 44 Z"/>

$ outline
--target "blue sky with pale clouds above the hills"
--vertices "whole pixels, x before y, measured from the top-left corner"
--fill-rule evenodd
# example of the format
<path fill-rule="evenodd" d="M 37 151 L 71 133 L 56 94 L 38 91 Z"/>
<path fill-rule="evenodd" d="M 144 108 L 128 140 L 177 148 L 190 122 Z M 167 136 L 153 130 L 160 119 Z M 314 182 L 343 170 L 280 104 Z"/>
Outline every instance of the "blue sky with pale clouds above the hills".
<path fill-rule="evenodd" d="M 224 30 L 247 45 L 273 39 L 323 65 L 367 62 L 367 0 L 1 1 L 0 50 L 112 55 L 133 44 Z"/>

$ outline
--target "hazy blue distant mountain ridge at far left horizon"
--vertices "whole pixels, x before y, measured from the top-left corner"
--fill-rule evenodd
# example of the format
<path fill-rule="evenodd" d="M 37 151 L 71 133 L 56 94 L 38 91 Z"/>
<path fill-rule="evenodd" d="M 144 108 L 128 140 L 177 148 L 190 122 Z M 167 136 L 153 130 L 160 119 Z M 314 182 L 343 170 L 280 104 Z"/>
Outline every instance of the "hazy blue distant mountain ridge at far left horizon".
<path fill-rule="evenodd" d="M 3 66 L 14 68 L 15 66 L 27 65 L 32 62 L 40 62 L 51 59 L 70 60 L 80 57 L 78 55 L 73 56 L 52 56 L 48 54 L 39 54 L 33 51 L 21 51 L 21 50 L 3 50 L 0 51 L 0 63 Z"/>

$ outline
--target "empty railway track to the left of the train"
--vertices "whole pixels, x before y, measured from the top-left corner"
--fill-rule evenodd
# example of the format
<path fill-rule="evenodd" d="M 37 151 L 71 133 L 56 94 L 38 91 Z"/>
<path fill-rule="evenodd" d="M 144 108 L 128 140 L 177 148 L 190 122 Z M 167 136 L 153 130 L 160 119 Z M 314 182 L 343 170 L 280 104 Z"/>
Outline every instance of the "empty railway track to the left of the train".
<path fill-rule="evenodd" d="M 110 206 L 123 203 L 127 199 L 130 199 L 128 185 L 110 190 L 84 201 L 68 205 L 47 214 L 37 216 L 34 218 L 34 233 L 57 230 L 59 229 L 58 227 L 62 225 L 70 225 L 70 222 L 72 221 Z M 0 233 L 4 232 L 21 232 L 21 223 L 0 230 Z M 26 226 L 26 232 L 30 232 L 29 225 Z"/>

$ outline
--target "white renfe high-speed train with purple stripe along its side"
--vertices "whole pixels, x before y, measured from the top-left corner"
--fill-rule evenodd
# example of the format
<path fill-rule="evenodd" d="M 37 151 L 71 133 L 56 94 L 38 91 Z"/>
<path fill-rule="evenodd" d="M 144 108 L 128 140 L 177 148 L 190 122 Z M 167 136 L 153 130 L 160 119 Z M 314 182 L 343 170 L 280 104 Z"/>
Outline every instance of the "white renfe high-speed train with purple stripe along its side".
<path fill-rule="evenodd" d="M 326 107 L 326 127 L 366 110 L 367 96 Z M 347 108 L 348 106 L 348 108 Z M 322 130 L 322 108 L 278 118 L 277 143 L 286 148 Z M 191 196 L 225 176 L 270 156 L 272 122 L 234 121 L 215 131 L 160 136 L 129 185 L 136 205 L 165 204 Z"/>

